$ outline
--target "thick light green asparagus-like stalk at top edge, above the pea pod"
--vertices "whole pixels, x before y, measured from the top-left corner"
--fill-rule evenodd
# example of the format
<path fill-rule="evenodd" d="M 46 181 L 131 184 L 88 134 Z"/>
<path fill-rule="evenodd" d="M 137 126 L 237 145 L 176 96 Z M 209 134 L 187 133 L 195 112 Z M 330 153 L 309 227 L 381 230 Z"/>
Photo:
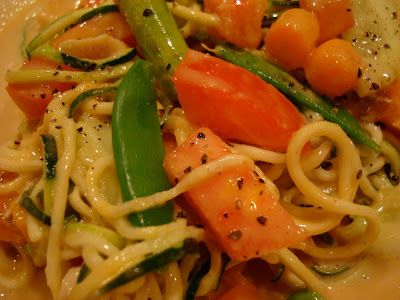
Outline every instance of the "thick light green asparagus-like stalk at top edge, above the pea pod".
<path fill-rule="evenodd" d="M 165 96 L 177 100 L 171 76 L 188 49 L 164 0 L 121 0 L 120 10 L 130 24 Z"/>

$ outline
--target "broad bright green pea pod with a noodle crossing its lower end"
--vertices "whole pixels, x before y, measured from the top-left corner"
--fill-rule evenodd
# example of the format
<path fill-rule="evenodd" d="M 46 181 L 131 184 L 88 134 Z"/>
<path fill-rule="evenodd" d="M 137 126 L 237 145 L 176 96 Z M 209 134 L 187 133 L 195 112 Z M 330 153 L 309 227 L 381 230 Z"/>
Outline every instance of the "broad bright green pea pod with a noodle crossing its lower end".
<path fill-rule="evenodd" d="M 114 158 L 124 201 L 169 189 L 150 63 L 137 60 L 126 74 L 114 98 L 112 120 Z M 172 219 L 172 201 L 129 216 L 134 226 L 161 225 Z"/>

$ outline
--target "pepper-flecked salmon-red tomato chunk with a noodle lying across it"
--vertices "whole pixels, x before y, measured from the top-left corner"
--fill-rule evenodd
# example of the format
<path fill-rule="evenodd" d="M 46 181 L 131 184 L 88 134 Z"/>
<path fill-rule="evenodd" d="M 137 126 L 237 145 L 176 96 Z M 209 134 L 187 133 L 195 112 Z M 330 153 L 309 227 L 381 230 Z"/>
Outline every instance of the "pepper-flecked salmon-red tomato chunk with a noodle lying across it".
<path fill-rule="evenodd" d="M 170 181 L 176 183 L 191 170 L 229 153 L 218 136 L 200 128 L 167 155 L 164 167 Z M 310 236 L 247 165 L 206 179 L 184 196 L 220 247 L 235 260 L 267 255 Z"/>

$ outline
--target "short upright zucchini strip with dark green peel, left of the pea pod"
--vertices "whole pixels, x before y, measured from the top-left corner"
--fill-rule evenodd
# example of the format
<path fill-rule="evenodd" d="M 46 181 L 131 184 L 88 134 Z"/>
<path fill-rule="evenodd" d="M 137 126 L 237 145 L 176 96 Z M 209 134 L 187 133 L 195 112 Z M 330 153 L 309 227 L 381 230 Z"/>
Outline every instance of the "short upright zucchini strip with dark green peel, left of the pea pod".
<path fill-rule="evenodd" d="M 44 152 L 44 212 L 51 215 L 54 198 L 54 182 L 56 178 L 57 145 L 54 137 L 50 134 L 42 135 Z"/>

